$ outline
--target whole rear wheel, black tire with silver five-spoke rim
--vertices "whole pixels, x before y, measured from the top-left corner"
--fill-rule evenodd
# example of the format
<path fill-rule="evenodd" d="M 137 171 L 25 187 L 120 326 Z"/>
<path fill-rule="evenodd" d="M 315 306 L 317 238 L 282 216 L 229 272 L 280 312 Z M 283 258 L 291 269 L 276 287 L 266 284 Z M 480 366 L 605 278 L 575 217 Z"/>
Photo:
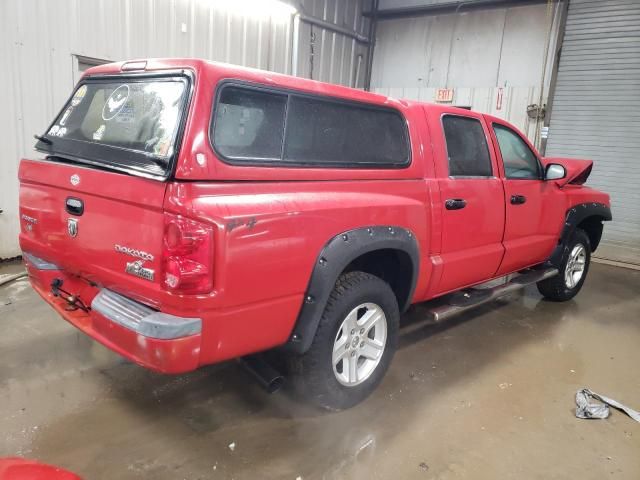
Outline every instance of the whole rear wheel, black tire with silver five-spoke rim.
<path fill-rule="evenodd" d="M 395 294 L 386 282 L 364 272 L 342 275 L 310 349 L 296 359 L 303 394 L 330 410 L 367 398 L 395 353 L 399 318 Z"/>

